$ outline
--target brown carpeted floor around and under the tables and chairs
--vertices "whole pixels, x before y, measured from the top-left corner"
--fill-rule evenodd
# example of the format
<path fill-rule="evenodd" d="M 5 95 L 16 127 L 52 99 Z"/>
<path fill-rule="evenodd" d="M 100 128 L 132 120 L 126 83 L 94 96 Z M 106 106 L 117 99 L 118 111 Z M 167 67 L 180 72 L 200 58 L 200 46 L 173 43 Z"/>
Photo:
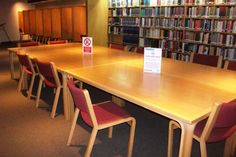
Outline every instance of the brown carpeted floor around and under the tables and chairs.
<path fill-rule="evenodd" d="M 35 85 L 34 93 L 37 84 Z M 98 89 L 85 86 L 95 102 L 111 96 Z M 53 90 L 42 91 L 40 108 L 35 101 L 28 100 L 25 93 L 17 92 L 17 80 L 11 80 L 8 52 L 0 49 L 0 157 L 82 157 L 91 129 L 78 120 L 72 139 L 72 146 L 66 146 L 70 122 L 64 120 L 62 100 L 58 116 L 51 119 L 49 114 Z M 134 142 L 134 157 L 167 156 L 168 119 L 128 103 L 125 107 L 137 120 Z M 93 147 L 93 157 L 124 157 L 127 152 L 129 127 L 114 128 L 113 138 L 108 139 L 107 130 L 98 132 Z M 178 156 L 180 131 L 175 132 L 174 156 Z M 209 144 L 208 156 L 221 157 L 224 142 Z M 194 141 L 192 157 L 200 157 L 199 144 Z"/>

